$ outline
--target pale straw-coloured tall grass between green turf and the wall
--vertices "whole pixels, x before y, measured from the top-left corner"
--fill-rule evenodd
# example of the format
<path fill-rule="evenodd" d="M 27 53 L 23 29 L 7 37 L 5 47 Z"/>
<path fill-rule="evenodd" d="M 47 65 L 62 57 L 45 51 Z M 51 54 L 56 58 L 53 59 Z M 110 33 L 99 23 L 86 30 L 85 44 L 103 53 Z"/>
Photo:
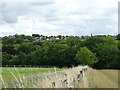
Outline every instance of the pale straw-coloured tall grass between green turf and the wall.
<path fill-rule="evenodd" d="M 83 66 L 66 68 L 62 71 L 49 72 L 37 75 L 15 77 L 7 88 L 77 88 L 83 87 L 83 79 L 78 82 L 77 75 Z M 4 86 L 5 86 L 4 85 Z"/>

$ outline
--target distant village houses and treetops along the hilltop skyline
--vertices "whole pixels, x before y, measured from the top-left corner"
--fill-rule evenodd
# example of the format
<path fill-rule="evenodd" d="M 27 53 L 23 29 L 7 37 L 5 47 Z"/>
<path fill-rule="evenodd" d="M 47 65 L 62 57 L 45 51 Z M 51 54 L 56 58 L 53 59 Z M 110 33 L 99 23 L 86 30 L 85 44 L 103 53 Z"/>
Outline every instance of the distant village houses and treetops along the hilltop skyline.
<path fill-rule="evenodd" d="M 33 39 L 34 42 L 44 42 L 44 41 L 58 41 L 58 40 L 62 40 L 62 39 L 66 39 L 67 37 L 70 37 L 70 36 L 63 36 L 63 35 L 58 35 L 58 36 L 44 36 L 44 35 L 39 35 L 39 34 L 32 34 L 32 36 L 30 35 L 24 35 L 24 34 L 15 34 L 15 35 L 9 35 L 9 36 L 5 36 L 7 38 L 16 38 L 18 36 L 22 36 L 22 37 L 26 37 L 24 39 L 25 42 L 30 42 L 29 40 L 29 37 L 31 37 Z M 73 36 L 73 37 L 76 37 L 76 38 L 82 38 L 82 39 L 85 39 L 87 37 L 92 37 L 92 36 L 96 36 L 96 37 L 106 37 L 106 36 L 110 36 L 110 37 L 113 37 L 114 39 L 116 39 L 116 35 L 90 35 L 90 36 Z M 2 38 L 2 37 L 0 37 Z"/>

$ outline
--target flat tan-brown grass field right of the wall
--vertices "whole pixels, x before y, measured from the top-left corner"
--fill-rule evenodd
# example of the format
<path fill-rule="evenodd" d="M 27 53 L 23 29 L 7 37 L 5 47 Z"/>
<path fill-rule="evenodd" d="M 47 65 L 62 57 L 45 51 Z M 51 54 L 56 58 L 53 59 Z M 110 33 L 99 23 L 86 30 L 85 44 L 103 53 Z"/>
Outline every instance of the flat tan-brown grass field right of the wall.
<path fill-rule="evenodd" d="M 90 88 L 118 88 L 118 70 L 88 70 Z"/>

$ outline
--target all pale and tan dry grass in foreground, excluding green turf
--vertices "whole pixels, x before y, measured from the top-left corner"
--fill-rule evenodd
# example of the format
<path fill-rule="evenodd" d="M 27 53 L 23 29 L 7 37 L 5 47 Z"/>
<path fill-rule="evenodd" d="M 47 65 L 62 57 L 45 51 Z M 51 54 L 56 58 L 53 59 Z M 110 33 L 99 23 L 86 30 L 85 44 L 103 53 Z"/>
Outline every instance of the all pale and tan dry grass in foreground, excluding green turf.
<path fill-rule="evenodd" d="M 55 72 L 15 77 L 9 88 L 118 88 L 118 70 L 88 68 L 84 71 L 83 68 L 78 66 L 62 71 L 54 68 Z M 83 76 L 78 78 L 81 70 Z"/>

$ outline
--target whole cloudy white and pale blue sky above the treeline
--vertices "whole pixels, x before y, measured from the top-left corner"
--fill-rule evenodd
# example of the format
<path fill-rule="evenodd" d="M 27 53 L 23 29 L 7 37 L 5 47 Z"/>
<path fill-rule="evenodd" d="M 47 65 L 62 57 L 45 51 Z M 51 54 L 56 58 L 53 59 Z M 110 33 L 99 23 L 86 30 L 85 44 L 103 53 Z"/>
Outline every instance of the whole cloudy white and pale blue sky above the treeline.
<path fill-rule="evenodd" d="M 116 35 L 119 0 L 3 0 L 0 36 Z"/>

